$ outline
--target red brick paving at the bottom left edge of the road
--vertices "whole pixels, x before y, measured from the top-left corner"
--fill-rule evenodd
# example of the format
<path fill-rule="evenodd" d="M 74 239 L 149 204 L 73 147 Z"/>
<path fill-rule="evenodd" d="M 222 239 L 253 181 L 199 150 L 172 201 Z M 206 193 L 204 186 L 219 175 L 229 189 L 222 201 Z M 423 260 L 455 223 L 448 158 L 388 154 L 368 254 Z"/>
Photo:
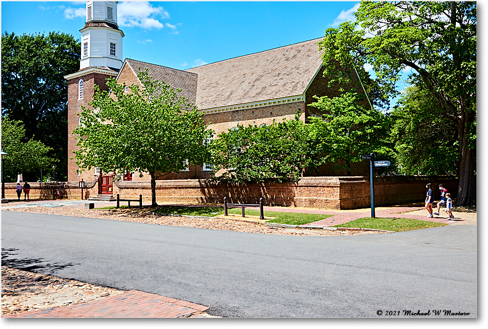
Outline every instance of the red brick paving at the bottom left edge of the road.
<path fill-rule="evenodd" d="M 72 306 L 20 312 L 2 317 L 23 318 L 179 318 L 200 314 L 208 307 L 139 290 Z"/>

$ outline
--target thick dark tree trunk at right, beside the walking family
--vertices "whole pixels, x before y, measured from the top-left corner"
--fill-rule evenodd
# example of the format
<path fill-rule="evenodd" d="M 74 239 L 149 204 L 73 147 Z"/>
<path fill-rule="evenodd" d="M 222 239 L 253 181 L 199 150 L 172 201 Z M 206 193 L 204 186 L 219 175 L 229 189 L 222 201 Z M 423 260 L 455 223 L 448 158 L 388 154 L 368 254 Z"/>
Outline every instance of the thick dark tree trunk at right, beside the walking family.
<path fill-rule="evenodd" d="M 456 124 L 459 134 L 459 187 L 455 204 L 462 207 L 476 205 L 475 150 L 468 149 L 468 120 L 469 114 L 465 114 Z"/>

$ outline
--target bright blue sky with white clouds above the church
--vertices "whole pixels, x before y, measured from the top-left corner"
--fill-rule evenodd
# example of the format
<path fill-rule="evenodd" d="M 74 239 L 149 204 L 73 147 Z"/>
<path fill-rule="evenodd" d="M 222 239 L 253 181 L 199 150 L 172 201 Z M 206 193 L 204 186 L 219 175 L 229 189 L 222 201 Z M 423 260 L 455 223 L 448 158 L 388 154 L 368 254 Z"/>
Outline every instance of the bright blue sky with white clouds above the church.
<path fill-rule="evenodd" d="M 323 37 L 359 2 L 120 1 L 123 57 L 180 70 Z M 2 1 L 2 33 L 80 38 L 84 1 Z"/>

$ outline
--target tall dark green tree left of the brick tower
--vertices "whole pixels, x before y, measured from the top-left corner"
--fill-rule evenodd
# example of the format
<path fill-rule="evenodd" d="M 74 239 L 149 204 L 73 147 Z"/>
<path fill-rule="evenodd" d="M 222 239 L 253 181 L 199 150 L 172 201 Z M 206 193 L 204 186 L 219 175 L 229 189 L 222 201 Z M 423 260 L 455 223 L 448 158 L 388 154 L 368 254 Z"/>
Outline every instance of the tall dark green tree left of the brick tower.
<path fill-rule="evenodd" d="M 24 141 L 51 147 L 60 180 L 67 179 L 67 83 L 63 76 L 80 68 L 80 42 L 50 32 L 1 38 L 1 113 L 25 126 Z"/>

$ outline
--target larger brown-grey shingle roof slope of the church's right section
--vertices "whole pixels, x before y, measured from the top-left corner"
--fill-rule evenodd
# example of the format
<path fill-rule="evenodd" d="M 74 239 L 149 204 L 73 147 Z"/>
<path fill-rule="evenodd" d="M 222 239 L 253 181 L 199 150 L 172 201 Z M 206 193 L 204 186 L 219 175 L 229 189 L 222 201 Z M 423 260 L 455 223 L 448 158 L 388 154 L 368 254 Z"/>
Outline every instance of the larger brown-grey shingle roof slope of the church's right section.
<path fill-rule="evenodd" d="M 185 70 L 198 74 L 200 110 L 301 95 L 322 65 L 317 42 L 308 40 Z"/>

